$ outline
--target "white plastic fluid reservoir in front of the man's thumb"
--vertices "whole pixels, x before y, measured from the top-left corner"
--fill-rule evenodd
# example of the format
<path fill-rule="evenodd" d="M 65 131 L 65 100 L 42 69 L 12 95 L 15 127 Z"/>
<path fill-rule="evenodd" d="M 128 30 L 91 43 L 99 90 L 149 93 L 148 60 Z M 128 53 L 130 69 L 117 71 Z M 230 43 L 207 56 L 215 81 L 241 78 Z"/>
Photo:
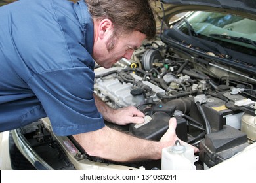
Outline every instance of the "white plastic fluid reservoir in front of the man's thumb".
<path fill-rule="evenodd" d="M 195 170 L 194 162 L 198 161 L 198 156 L 194 156 L 194 149 L 186 145 L 181 145 L 179 141 L 174 146 L 163 148 L 161 157 L 162 170 Z"/>

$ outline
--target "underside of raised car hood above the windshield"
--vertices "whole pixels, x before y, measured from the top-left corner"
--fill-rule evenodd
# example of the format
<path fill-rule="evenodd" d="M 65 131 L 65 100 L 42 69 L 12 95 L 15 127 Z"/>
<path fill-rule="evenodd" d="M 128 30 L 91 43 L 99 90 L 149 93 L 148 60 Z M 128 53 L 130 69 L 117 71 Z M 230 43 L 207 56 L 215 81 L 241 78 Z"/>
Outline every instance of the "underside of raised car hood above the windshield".
<path fill-rule="evenodd" d="M 163 3 L 161 5 L 161 3 Z M 179 1 L 179 0 L 161 0 L 152 3 L 154 11 L 158 18 L 162 20 L 163 9 L 165 11 L 165 24 L 169 24 L 173 16 L 188 11 L 194 10 L 210 10 L 215 12 L 223 12 L 230 14 L 238 14 L 245 18 L 256 20 L 256 1 L 249 0 L 196 0 L 196 1 Z"/>

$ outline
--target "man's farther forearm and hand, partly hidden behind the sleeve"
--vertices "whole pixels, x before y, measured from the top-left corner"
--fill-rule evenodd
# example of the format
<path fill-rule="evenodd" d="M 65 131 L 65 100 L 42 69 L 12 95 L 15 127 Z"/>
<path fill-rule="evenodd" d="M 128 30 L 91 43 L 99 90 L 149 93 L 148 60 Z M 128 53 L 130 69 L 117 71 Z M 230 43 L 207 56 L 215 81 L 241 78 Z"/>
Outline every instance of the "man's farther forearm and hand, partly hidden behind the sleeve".
<path fill-rule="evenodd" d="M 114 124 L 126 125 L 126 124 L 140 124 L 144 122 L 144 114 L 137 110 L 134 106 L 123 108 L 110 108 L 104 103 L 97 95 L 94 94 L 95 105 L 98 108 L 98 112 L 102 114 L 105 120 L 113 122 Z"/>

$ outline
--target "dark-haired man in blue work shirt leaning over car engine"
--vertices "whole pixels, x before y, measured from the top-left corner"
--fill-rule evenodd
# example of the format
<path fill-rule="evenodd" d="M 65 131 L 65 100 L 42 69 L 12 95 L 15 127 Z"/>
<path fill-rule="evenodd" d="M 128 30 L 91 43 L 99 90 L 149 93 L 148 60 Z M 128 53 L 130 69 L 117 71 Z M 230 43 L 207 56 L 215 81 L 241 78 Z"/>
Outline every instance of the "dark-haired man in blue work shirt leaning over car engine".
<path fill-rule="evenodd" d="M 94 61 L 109 68 L 154 37 L 147 0 L 20 0 L 1 7 L 0 17 L 0 131 L 48 116 L 56 135 L 73 135 L 89 155 L 114 161 L 160 159 L 178 139 L 174 118 L 160 142 L 110 129 L 103 117 L 125 125 L 144 114 L 93 96 Z"/>

